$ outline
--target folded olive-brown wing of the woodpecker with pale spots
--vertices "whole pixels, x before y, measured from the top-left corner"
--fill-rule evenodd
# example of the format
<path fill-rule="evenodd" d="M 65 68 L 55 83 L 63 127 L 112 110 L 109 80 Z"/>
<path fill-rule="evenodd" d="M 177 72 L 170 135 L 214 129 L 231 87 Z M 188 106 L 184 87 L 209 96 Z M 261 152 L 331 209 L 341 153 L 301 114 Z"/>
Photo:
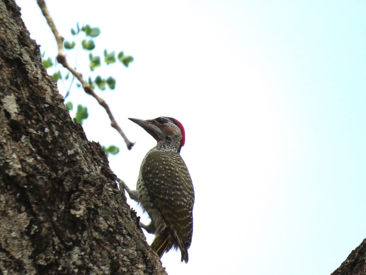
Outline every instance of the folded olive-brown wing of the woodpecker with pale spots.
<path fill-rule="evenodd" d="M 181 252 L 187 252 L 193 233 L 194 190 L 179 153 L 150 152 L 142 167 L 143 180 Z"/>

